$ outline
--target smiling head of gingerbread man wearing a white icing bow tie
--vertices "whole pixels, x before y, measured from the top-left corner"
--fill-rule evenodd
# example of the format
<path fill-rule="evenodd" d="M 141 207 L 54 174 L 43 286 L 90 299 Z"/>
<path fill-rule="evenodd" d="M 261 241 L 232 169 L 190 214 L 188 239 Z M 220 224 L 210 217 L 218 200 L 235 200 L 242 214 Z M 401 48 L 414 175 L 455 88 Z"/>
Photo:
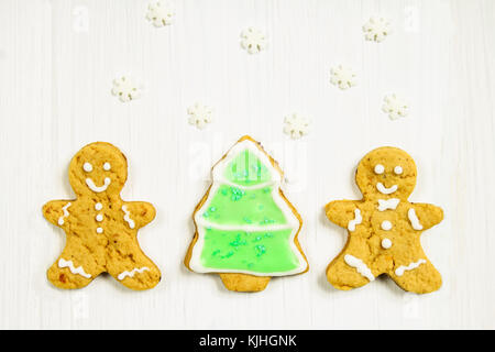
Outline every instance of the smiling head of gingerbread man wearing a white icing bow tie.
<path fill-rule="evenodd" d="M 398 198 L 407 200 L 416 186 L 416 164 L 396 147 L 378 147 L 358 165 L 356 184 L 364 199 Z"/>

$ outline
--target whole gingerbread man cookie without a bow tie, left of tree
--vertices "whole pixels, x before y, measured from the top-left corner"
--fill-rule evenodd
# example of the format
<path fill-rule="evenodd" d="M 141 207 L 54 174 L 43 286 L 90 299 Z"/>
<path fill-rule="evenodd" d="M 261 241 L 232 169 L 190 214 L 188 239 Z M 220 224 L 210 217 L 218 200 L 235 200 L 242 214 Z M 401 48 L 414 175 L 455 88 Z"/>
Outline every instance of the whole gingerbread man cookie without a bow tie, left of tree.
<path fill-rule="evenodd" d="M 136 238 L 138 230 L 155 218 L 155 209 L 120 198 L 127 178 L 125 156 L 110 143 L 91 143 L 73 157 L 69 182 L 77 199 L 43 207 L 45 218 L 67 235 L 64 251 L 47 272 L 55 286 L 85 287 L 101 273 L 138 290 L 160 282 L 158 267 Z"/>

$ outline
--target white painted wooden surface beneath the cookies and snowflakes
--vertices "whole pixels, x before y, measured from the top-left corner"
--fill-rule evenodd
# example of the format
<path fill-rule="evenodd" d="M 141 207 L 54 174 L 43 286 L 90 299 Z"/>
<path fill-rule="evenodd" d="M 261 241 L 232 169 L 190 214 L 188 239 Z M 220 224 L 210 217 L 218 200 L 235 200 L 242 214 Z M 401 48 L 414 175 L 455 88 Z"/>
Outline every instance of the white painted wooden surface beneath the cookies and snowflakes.
<path fill-rule="evenodd" d="M 0 327 L 495 328 L 495 1 L 175 4 L 175 23 L 155 29 L 147 1 L 0 1 Z M 373 14 L 394 24 L 381 44 L 361 32 Z M 258 55 L 240 47 L 249 25 L 268 35 Z M 355 68 L 356 87 L 329 84 L 339 63 Z M 141 99 L 110 95 L 121 73 L 144 82 Z M 409 99 L 407 118 L 381 111 L 388 92 Z M 204 131 L 187 124 L 196 101 L 216 108 Z M 300 141 L 282 133 L 290 112 L 312 119 Z M 273 279 L 261 294 L 227 292 L 217 276 L 183 265 L 209 169 L 243 134 L 285 169 L 310 262 L 309 273 Z M 157 208 L 140 232 L 164 272 L 152 290 L 131 292 L 109 276 L 74 292 L 46 280 L 65 235 L 41 207 L 73 196 L 68 162 L 94 141 L 127 154 L 124 199 Z M 422 238 L 443 275 L 435 294 L 406 294 L 389 279 L 353 292 L 327 283 L 345 231 L 322 207 L 360 198 L 354 168 L 381 145 L 415 157 L 411 200 L 444 209 L 444 221 Z"/>

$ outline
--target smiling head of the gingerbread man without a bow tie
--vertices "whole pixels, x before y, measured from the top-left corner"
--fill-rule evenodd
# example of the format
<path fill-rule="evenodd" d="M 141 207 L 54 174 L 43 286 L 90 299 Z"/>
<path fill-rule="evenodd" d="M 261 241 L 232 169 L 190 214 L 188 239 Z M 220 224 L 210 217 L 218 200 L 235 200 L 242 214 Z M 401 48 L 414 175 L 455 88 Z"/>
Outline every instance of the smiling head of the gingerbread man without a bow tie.
<path fill-rule="evenodd" d="M 78 197 L 118 196 L 127 178 L 125 156 L 110 143 L 86 145 L 69 165 L 70 186 Z"/>

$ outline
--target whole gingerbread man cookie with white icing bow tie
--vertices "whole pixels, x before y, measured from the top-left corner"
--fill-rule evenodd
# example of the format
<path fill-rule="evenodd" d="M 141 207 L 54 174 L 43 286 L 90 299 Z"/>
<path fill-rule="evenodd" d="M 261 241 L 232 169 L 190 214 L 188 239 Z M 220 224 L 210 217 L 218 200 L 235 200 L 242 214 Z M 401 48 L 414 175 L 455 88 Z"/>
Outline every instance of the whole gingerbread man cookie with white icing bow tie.
<path fill-rule="evenodd" d="M 326 206 L 330 221 L 349 230 L 344 249 L 327 268 L 327 278 L 336 288 L 361 287 L 381 274 L 407 292 L 426 294 L 440 288 L 440 273 L 427 258 L 419 237 L 442 221 L 443 211 L 407 200 L 416 175 L 416 164 L 406 152 L 376 148 L 362 158 L 355 174 L 363 199 Z"/>

